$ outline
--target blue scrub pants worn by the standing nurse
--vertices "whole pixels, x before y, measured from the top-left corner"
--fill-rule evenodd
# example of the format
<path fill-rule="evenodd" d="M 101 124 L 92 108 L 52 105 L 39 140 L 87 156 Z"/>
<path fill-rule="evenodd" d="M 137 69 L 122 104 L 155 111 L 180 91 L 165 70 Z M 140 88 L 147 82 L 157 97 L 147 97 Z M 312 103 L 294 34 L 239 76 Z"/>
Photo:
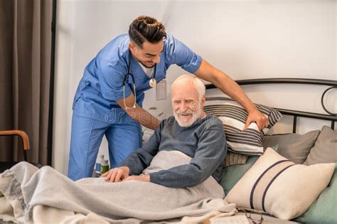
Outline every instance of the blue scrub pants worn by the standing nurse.
<path fill-rule="evenodd" d="M 141 147 L 139 124 L 110 124 L 73 114 L 68 164 L 68 177 L 73 181 L 92 176 L 103 135 L 109 144 L 111 168 Z"/>

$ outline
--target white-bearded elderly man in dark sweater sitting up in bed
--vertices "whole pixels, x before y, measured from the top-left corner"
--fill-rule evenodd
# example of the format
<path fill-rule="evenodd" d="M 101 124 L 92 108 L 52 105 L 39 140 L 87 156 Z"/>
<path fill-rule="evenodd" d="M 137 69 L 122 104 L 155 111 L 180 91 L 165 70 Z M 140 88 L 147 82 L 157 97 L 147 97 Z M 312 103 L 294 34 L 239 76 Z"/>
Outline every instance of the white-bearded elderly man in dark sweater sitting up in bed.
<path fill-rule="evenodd" d="M 164 119 L 149 142 L 102 178 L 109 182 L 145 181 L 172 188 L 195 186 L 211 175 L 220 181 L 227 152 L 225 133 L 220 119 L 203 112 L 205 85 L 191 75 L 181 75 L 173 82 L 171 95 L 174 117 Z M 141 174 L 159 151 L 171 150 L 190 156 L 190 163 Z"/>

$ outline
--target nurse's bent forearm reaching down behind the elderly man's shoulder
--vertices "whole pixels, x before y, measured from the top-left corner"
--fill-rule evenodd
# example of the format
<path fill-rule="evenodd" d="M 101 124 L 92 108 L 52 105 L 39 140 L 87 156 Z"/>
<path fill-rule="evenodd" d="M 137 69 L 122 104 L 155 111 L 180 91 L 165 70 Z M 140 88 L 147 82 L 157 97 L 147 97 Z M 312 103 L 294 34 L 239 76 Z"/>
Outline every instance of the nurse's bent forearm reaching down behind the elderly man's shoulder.
<path fill-rule="evenodd" d="M 134 95 L 131 94 L 129 97 L 125 98 L 125 104 L 127 107 L 132 107 L 134 105 Z M 143 108 L 139 107 L 138 104 L 136 104 L 136 108 L 133 109 L 127 109 L 124 106 L 124 100 L 117 100 L 116 101 L 118 105 L 125 111 L 127 114 L 129 114 L 132 119 L 137 120 L 141 125 L 144 127 L 147 127 L 149 129 L 156 129 L 159 127 L 159 119 L 156 119 L 152 114 L 144 110 Z"/>

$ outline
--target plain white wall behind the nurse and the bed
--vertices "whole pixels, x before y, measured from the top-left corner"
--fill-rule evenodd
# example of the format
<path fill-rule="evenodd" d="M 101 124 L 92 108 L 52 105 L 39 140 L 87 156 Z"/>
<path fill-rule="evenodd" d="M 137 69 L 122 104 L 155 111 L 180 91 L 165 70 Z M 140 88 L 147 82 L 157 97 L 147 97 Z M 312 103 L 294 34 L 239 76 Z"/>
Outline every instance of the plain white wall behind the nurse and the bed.
<path fill-rule="evenodd" d="M 336 11 L 336 1 L 319 0 L 58 0 L 53 166 L 64 174 L 68 170 L 73 95 L 85 65 L 110 39 L 127 33 L 129 23 L 137 16 L 158 18 L 169 33 L 235 80 L 337 80 Z M 171 66 L 168 90 L 182 73 L 186 72 Z M 296 85 L 245 87 L 254 102 L 321 113 L 324 89 Z M 149 90 L 144 108 L 156 107 L 151 112 L 170 115 L 170 97 L 156 101 L 154 90 Z M 326 101 L 336 112 L 336 91 Z M 286 126 L 279 126 L 280 131 L 287 132 Z M 107 154 L 106 141 L 101 150 Z"/>

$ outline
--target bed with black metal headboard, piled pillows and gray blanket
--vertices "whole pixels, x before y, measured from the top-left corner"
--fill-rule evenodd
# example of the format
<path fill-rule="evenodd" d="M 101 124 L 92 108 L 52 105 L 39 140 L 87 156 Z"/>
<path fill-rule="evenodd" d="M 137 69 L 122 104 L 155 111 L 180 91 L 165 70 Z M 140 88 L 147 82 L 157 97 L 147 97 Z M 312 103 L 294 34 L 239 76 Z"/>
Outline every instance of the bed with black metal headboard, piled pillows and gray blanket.
<path fill-rule="evenodd" d="M 237 83 L 239 85 L 296 83 L 328 86 L 322 95 L 322 102 L 324 102 L 323 97 L 326 92 L 337 86 L 337 81 L 334 80 L 304 79 L 239 80 Z M 213 87 L 213 85 L 206 85 L 206 92 L 213 90 Z M 28 198 L 14 198 L 11 203 L 6 201 L 4 197 L 6 193 L 0 193 L 0 204 L 2 203 L 2 207 L 0 206 L 0 219 L 7 218 L 11 220 L 16 215 L 18 220 L 24 221 L 27 220 L 25 218 L 30 218 L 30 220 L 33 219 L 40 223 L 50 221 L 50 219 L 54 222 L 65 223 L 70 221 L 73 223 L 112 223 L 116 220 L 119 223 L 141 223 L 146 222 L 146 220 L 149 222 L 154 220 L 178 220 L 184 223 L 216 223 L 222 220 L 225 222 L 228 218 L 238 218 L 232 221 L 239 222 L 241 220 L 242 223 L 321 223 L 322 221 L 324 223 L 336 223 L 336 218 L 333 217 L 336 214 L 337 194 L 336 181 L 334 181 L 336 178 L 337 132 L 334 130 L 334 125 L 337 121 L 336 114 L 328 111 L 324 104 L 324 110 L 328 114 L 281 108 L 273 109 L 265 105 L 258 105 L 259 110 L 268 114 L 269 127 L 267 129 L 271 129 L 277 122 L 282 122 L 283 114 L 293 117 L 293 132 L 289 134 L 268 134 L 267 129 L 264 129 L 265 133 L 261 134 L 254 131 L 256 124 L 252 123 L 249 132 L 245 132 L 245 135 L 242 136 L 242 132 L 235 133 L 235 127 L 228 127 L 227 122 L 235 126 L 235 124 L 244 122 L 247 114 L 243 113 L 242 115 L 242 109 L 240 108 L 235 109 L 237 113 L 232 113 L 236 105 L 231 100 L 224 98 L 223 95 L 208 96 L 206 93 L 206 97 L 208 99 L 205 104 L 205 112 L 213 113 L 221 120 L 226 121 L 224 122 L 225 132 L 229 129 L 234 130 L 226 133 L 230 151 L 224 161 L 223 179 L 220 183 L 225 191 L 225 201 L 222 198 L 215 200 L 200 198 L 203 199 L 200 200 L 202 203 L 191 203 L 193 206 L 181 206 L 181 208 L 175 209 L 173 208 L 174 203 L 169 203 L 165 197 L 171 198 L 172 201 L 177 200 L 180 201 L 179 203 L 184 203 L 183 200 L 180 200 L 181 198 L 173 199 L 173 192 L 179 197 L 181 195 L 180 191 L 171 189 L 168 191 L 168 189 L 159 186 L 151 186 L 151 188 L 148 188 L 148 186 L 134 186 L 134 183 L 130 183 L 130 186 L 126 186 L 130 192 L 132 189 L 138 190 L 138 187 L 139 189 L 144 188 L 144 191 L 148 194 L 151 191 L 158 191 L 161 194 L 161 198 L 154 198 L 151 203 L 157 202 L 158 207 L 161 209 L 165 210 L 166 206 L 168 209 L 167 213 L 152 212 L 146 214 L 146 209 L 151 210 L 151 208 L 146 207 L 149 204 L 144 200 L 151 198 L 145 197 L 144 199 L 143 196 L 143 199 L 141 199 L 140 196 L 139 201 L 134 201 L 134 205 L 131 206 L 142 205 L 143 211 L 139 212 L 139 209 L 135 208 L 130 212 L 129 210 L 123 210 L 118 205 L 107 203 L 107 201 L 102 203 L 103 200 L 106 200 L 106 197 L 109 197 L 109 193 L 103 196 L 95 196 L 97 188 L 101 186 L 99 178 L 84 179 L 80 181 L 79 188 L 68 178 L 58 174 L 48 166 L 39 169 L 37 172 L 36 168 L 26 164 L 19 169 L 21 169 L 21 173 L 29 176 L 29 183 L 26 180 L 27 178 L 20 176 L 16 176 L 16 178 L 22 178 L 21 185 L 34 184 L 34 191 L 26 194 L 26 196 L 29 196 Z M 226 105 L 227 102 L 229 102 L 229 107 Z M 228 115 L 228 113 L 230 114 Z M 236 118 L 237 114 L 243 116 L 243 118 L 240 117 L 238 119 L 239 121 Z M 300 117 L 322 119 L 328 121 L 330 125 L 305 134 L 296 134 Z M 321 149 L 325 152 L 324 154 L 319 154 L 323 155 L 319 157 L 317 156 L 317 151 Z M 167 159 L 169 158 L 168 156 L 171 155 L 165 154 L 162 155 L 162 158 Z M 306 165 L 303 165 L 303 163 Z M 280 166 L 278 166 L 279 164 Z M 309 166 L 307 165 L 310 165 L 311 169 L 308 170 L 306 167 Z M 156 164 L 156 166 L 161 166 L 161 164 Z M 275 167 L 277 169 L 274 169 Z M 266 173 L 264 170 L 272 171 L 272 173 Z M 314 181 L 312 181 L 313 177 Z M 4 175 L 2 178 L 4 178 Z M 17 185 L 16 182 L 13 182 L 13 176 L 8 174 L 5 175 L 5 178 L 9 180 L 7 183 L 11 182 L 13 185 Z M 296 181 L 289 181 L 294 180 L 294 178 Z M 41 186 L 39 182 L 41 179 L 44 180 L 45 186 Z M 50 179 L 53 181 L 50 181 Z M 25 183 L 23 184 L 23 182 Z M 1 183 L 0 178 L 0 190 L 1 184 L 4 185 L 4 181 Z M 216 192 L 220 192 L 218 184 L 206 183 L 206 185 L 208 188 L 213 187 L 214 196 L 217 195 Z M 55 187 L 63 188 L 67 194 L 60 194 L 55 191 Z M 200 196 L 198 192 L 204 192 L 204 186 L 198 187 L 188 190 L 189 193 L 195 194 L 196 198 Z M 18 190 L 16 187 L 12 189 Z M 25 191 L 31 190 L 29 186 L 28 188 L 21 188 L 20 191 L 22 189 Z M 105 188 L 103 191 L 108 192 L 109 188 Z M 119 191 L 120 189 L 118 188 L 114 189 L 114 193 Z M 137 193 L 137 191 L 135 192 Z M 170 195 L 170 193 L 172 194 Z M 21 195 L 22 192 L 16 191 L 12 194 Z M 50 197 L 50 195 L 53 196 Z M 147 194 L 145 195 L 147 196 Z M 64 202 L 63 198 L 65 197 L 72 198 L 72 200 Z M 119 202 L 125 203 L 127 201 L 127 196 L 123 197 L 117 198 Z M 56 199 L 54 200 L 53 198 Z M 84 198 L 90 198 L 90 200 L 85 200 Z M 303 198 L 305 200 L 302 200 Z M 23 205 L 24 201 L 27 200 L 31 201 L 30 206 Z M 261 201 L 262 203 L 260 203 Z M 4 206 L 5 203 L 7 206 Z M 74 203 L 80 203 L 80 206 L 74 205 Z M 33 208 L 32 205 L 37 206 Z M 109 215 L 109 211 L 112 209 L 114 210 L 114 215 Z M 186 209 L 185 212 L 184 209 Z M 324 212 L 321 212 L 321 210 L 324 210 Z M 28 213 L 30 215 L 25 215 Z M 127 218 L 127 215 L 129 215 L 129 218 Z M 179 215 L 185 217 L 183 219 L 173 218 L 179 217 Z M 134 218 L 136 216 L 137 218 Z"/>

